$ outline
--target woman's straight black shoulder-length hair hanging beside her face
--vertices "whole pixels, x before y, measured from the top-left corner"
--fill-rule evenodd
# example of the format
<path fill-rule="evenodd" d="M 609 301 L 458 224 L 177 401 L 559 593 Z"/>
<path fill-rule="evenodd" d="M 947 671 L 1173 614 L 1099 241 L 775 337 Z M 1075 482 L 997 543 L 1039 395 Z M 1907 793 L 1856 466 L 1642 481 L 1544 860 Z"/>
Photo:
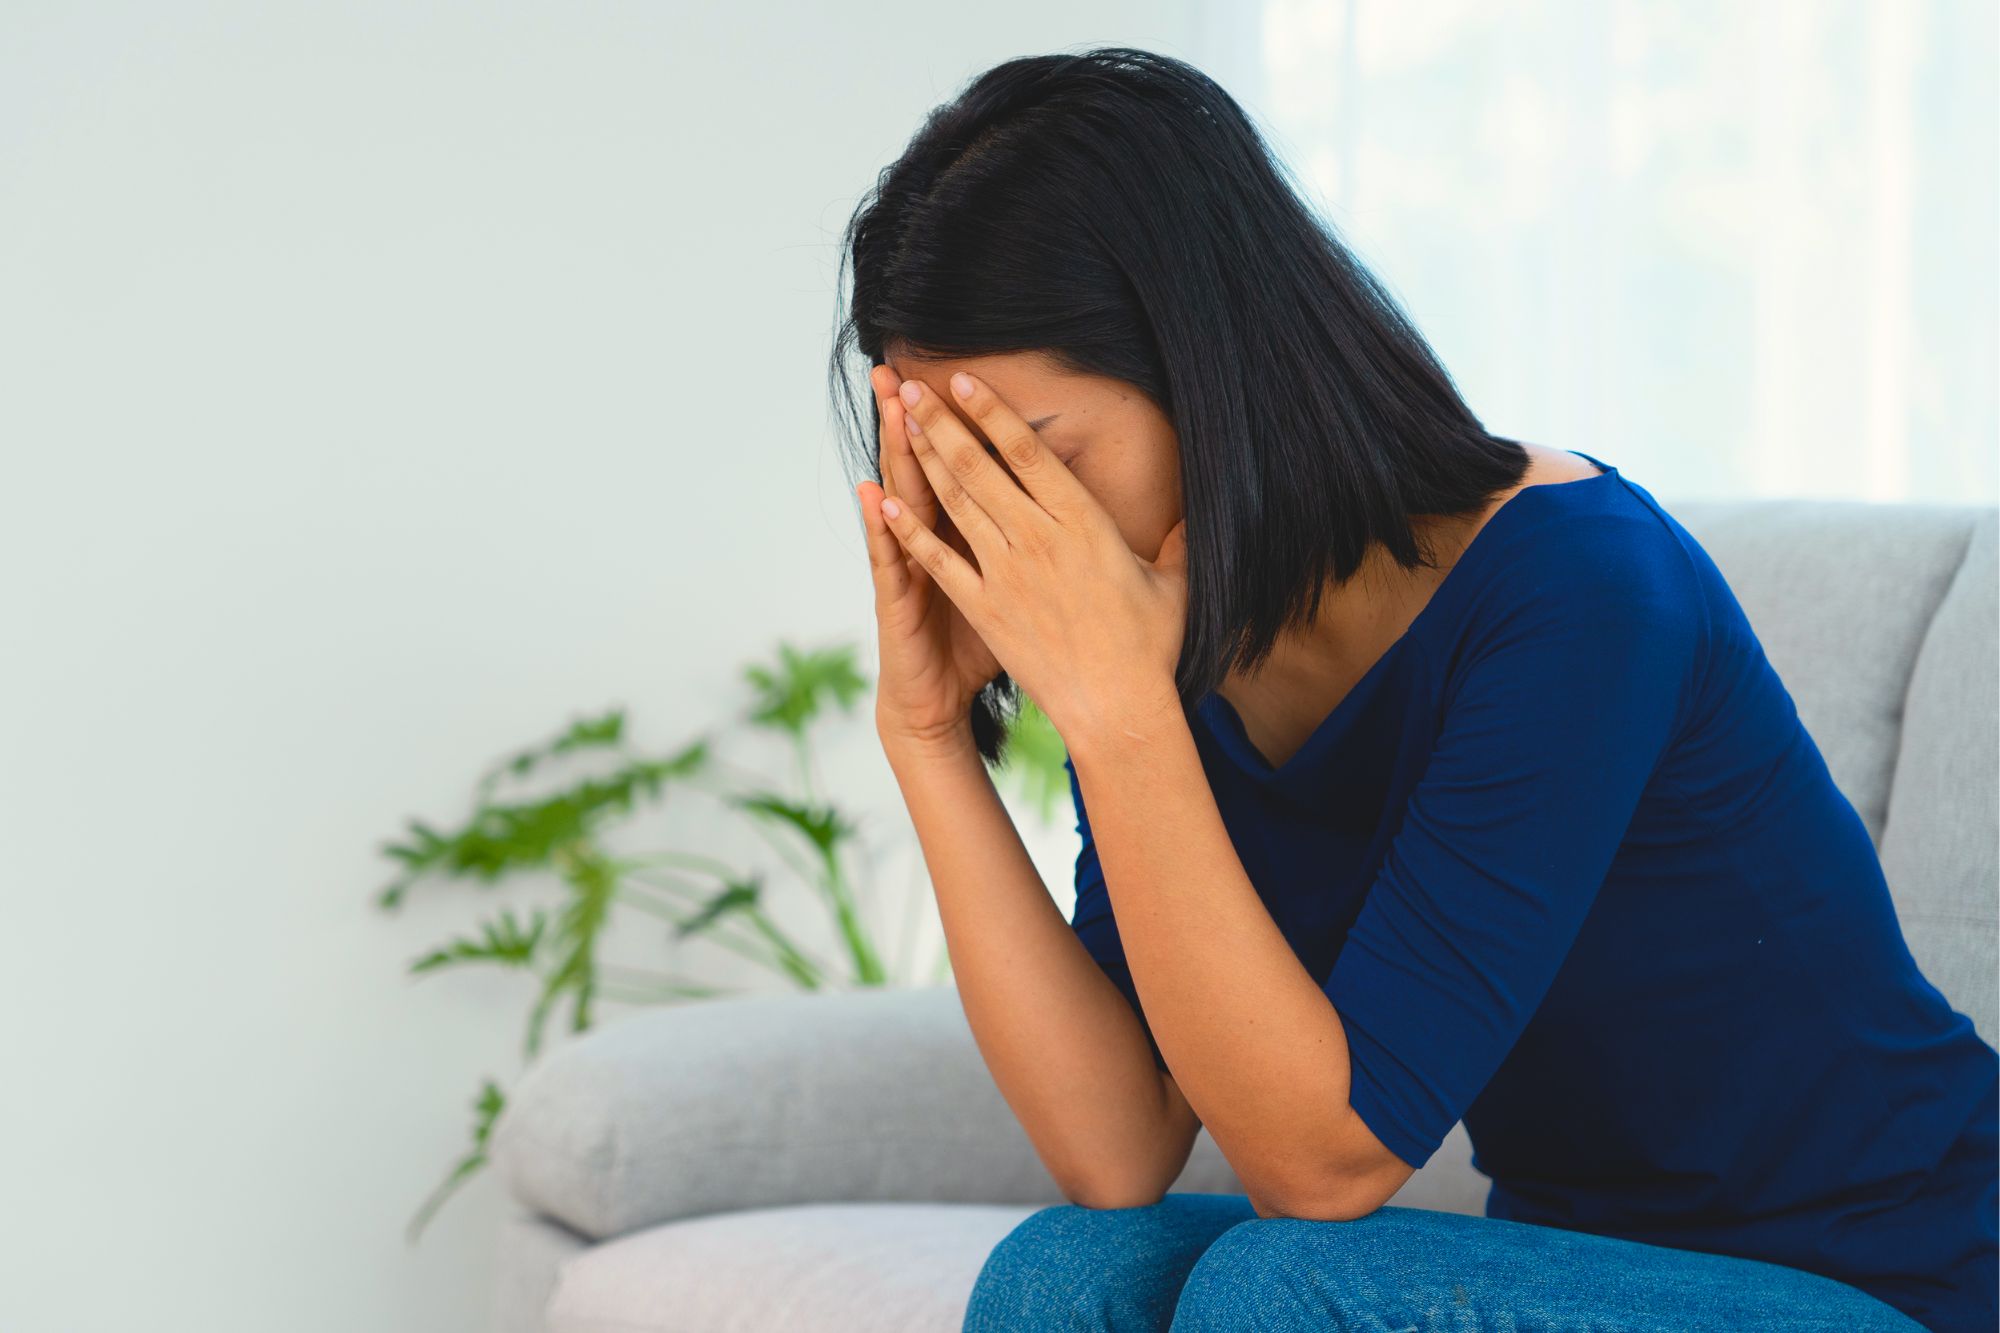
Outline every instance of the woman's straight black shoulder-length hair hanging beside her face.
<path fill-rule="evenodd" d="M 932 110 L 842 234 L 852 298 L 830 386 L 850 490 L 880 480 L 866 370 L 1036 350 L 1126 380 L 1172 420 L 1188 522 L 1176 687 L 1308 624 L 1370 542 L 1432 566 L 1412 514 L 1478 512 L 1528 470 L 1244 110 L 1194 66 L 1130 46 L 998 64 Z M 866 406 L 860 406 L 866 402 Z M 972 703 L 998 763 L 1020 707 L 1002 673 Z"/>

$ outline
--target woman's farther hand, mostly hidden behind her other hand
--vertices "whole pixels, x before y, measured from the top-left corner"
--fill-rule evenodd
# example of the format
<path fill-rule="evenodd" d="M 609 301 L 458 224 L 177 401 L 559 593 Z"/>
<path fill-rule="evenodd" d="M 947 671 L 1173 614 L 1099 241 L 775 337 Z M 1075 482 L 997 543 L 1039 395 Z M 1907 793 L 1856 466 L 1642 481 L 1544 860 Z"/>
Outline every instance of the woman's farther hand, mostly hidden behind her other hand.
<path fill-rule="evenodd" d="M 882 420 L 876 442 L 876 468 L 882 480 L 860 482 L 856 494 L 868 528 L 868 566 L 876 588 L 876 642 L 882 662 L 882 679 L 876 685 L 876 731 L 884 743 L 970 741 L 972 701 L 1000 675 L 1000 660 L 930 570 L 904 552 L 904 544 L 882 518 L 882 500 L 894 496 L 974 568 L 978 560 L 938 504 L 930 478 L 910 448 L 910 436 L 904 434 L 904 404 L 896 392 L 902 380 L 890 366 L 874 366 L 868 380 Z"/>

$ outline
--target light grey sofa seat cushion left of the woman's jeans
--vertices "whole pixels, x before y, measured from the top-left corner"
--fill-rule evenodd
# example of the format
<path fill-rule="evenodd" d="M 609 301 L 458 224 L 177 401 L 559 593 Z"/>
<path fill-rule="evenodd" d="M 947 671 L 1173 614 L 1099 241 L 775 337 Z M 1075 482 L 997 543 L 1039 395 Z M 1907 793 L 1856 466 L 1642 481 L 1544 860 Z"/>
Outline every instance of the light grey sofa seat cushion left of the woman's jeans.
<path fill-rule="evenodd" d="M 1038 1205 L 812 1203 L 692 1217 L 568 1259 L 548 1333 L 958 1333 Z"/>

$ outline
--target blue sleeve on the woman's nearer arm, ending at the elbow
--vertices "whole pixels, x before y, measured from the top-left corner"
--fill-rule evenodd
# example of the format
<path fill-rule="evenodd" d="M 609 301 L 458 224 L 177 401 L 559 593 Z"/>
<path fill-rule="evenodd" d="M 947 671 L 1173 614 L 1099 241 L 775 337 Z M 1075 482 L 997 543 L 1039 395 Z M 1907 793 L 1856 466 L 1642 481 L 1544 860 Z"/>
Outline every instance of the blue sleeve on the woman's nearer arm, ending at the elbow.
<path fill-rule="evenodd" d="M 1322 987 L 1348 1037 L 1348 1103 L 1412 1167 L 1540 1007 L 1690 699 L 1692 578 L 1668 556 L 1570 558 L 1508 570 L 1516 592 L 1468 626 L 1430 759 Z"/>

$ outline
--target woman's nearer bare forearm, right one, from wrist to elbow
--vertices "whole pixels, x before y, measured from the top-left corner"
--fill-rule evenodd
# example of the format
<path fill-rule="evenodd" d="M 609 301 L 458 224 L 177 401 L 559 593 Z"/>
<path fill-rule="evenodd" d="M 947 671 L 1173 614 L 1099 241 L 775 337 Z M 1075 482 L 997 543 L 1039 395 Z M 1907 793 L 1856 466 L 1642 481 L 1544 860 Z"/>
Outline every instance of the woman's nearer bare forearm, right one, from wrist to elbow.
<path fill-rule="evenodd" d="M 1346 1033 L 1250 883 L 1178 697 L 1092 727 L 1070 763 L 1182 1095 L 1260 1211 L 1340 1213 L 1360 1171 Z"/>

